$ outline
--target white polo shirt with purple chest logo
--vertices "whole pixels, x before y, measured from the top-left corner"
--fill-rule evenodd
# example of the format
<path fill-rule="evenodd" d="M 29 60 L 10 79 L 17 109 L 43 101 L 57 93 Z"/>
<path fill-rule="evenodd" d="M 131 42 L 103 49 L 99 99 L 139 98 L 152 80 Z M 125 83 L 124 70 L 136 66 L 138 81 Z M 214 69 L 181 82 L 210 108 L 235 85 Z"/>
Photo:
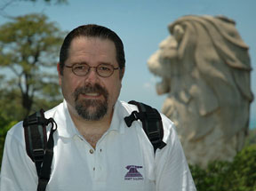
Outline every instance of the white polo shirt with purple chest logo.
<path fill-rule="evenodd" d="M 117 101 L 110 128 L 96 149 L 77 131 L 64 100 L 45 113 L 58 124 L 49 191 L 192 191 L 196 190 L 173 123 L 162 115 L 163 149 L 154 149 L 140 122 L 128 128 L 124 116 L 137 107 Z M 1 191 L 35 191 L 35 163 L 26 153 L 22 122 L 8 131 L 1 171 Z"/>

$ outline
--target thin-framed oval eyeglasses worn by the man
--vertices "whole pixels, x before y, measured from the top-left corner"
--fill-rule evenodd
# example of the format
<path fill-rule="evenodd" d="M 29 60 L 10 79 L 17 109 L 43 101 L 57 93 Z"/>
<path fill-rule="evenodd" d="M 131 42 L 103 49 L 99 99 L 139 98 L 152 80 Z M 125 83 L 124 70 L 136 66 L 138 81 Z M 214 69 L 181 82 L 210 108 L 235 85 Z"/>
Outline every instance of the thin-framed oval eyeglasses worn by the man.
<path fill-rule="evenodd" d="M 114 68 L 111 64 L 100 64 L 97 67 L 90 67 L 86 63 L 76 63 L 72 67 L 66 66 L 67 68 L 72 68 L 72 72 L 76 76 L 86 76 L 91 68 L 95 68 L 96 73 L 101 76 L 101 77 L 109 77 L 113 75 L 114 70 L 119 69 L 119 68 Z"/>

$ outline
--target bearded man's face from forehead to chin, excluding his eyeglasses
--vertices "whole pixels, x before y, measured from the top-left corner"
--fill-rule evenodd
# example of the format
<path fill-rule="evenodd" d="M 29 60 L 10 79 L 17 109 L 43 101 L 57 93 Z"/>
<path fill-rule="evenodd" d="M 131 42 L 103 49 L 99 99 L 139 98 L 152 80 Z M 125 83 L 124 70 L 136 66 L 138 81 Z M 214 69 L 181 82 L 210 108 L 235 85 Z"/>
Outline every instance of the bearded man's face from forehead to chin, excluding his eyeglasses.
<path fill-rule="evenodd" d="M 115 44 L 99 37 L 76 37 L 70 44 L 65 66 L 71 67 L 77 63 L 86 63 L 90 67 L 108 63 L 118 68 Z M 112 115 L 122 86 L 119 70 L 114 70 L 109 77 L 99 76 L 95 68 L 91 68 L 86 76 L 76 76 L 71 68 L 66 67 L 61 76 L 60 65 L 58 70 L 62 94 L 71 115 L 79 115 L 90 121 Z"/>

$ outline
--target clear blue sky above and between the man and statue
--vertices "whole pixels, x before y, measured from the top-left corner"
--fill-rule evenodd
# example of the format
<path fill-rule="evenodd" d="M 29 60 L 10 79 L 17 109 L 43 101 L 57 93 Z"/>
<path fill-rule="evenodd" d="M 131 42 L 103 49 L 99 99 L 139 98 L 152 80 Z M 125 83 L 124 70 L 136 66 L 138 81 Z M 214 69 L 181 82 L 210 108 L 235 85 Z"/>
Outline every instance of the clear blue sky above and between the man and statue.
<path fill-rule="evenodd" d="M 10 0 L 0 0 L 0 7 Z M 156 94 L 160 81 L 148 71 L 147 60 L 158 44 L 169 36 L 167 26 L 181 16 L 225 15 L 236 21 L 236 28 L 250 47 L 252 92 L 256 96 L 256 1 L 255 0 L 68 0 L 68 4 L 17 2 L 4 12 L 20 16 L 44 13 L 61 30 L 95 23 L 114 30 L 124 43 L 126 68 L 120 99 L 135 99 L 161 110 L 166 96 Z M 8 20 L 0 17 L 0 25 Z M 250 127 L 256 127 L 256 101 L 251 105 Z"/>

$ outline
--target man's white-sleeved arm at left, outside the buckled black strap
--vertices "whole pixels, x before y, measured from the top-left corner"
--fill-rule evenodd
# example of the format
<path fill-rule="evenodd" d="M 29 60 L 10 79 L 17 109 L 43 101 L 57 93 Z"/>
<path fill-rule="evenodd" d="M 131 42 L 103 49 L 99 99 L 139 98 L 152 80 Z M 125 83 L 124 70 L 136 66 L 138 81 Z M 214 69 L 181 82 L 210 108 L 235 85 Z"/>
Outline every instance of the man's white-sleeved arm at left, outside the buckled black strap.
<path fill-rule="evenodd" d="M 37 175 L 35 164 L 28 157 L 22 123 L 7 133 L 1 169 L 0 190 L 35 191 Z"/>

